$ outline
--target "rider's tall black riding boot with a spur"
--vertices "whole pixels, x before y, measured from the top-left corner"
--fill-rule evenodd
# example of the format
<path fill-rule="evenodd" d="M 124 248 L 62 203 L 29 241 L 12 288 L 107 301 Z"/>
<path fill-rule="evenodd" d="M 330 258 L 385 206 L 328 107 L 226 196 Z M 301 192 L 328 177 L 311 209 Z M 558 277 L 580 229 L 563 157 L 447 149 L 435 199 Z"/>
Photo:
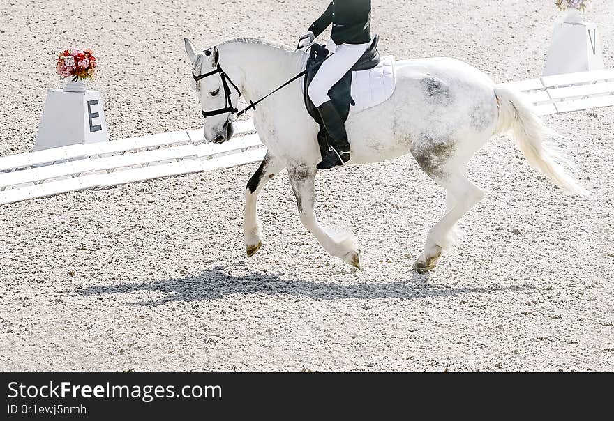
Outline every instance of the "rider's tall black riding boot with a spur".
<path fill-rule="evenodd" d="M 317 107 L 320 112 L 324 128 L 330 137 L 329 153 L 324 156 L 322 162 L 317 164 L 317 169 L 331 169 L 337 165 L 343 165 L 350 160 L 350 143 L 347 141 L 345 124 L 331 101 Z"/>

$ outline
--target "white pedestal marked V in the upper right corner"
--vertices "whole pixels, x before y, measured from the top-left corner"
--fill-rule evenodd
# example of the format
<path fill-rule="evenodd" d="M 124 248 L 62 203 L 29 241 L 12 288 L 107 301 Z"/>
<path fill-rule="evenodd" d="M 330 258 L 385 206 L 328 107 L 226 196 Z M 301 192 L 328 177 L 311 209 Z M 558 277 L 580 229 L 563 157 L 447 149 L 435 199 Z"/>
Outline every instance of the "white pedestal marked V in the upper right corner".
<path fill-rule="evenodd" d="M 601 40 L 597 26 L 581 22 L 579 13 L 569 13 L 556 24 L 544 67 L 544 76 L 602 70 Z"/>

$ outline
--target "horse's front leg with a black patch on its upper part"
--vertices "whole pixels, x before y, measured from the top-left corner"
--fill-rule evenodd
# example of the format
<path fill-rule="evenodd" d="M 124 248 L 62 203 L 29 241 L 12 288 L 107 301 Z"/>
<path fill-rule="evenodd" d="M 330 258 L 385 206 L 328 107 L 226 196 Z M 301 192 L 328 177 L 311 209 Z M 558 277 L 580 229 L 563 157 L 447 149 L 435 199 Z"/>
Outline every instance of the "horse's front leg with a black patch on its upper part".
<path fill-rule="evenodd" d="M 267 181 L 273 178 L 275 174 L 278 174 L 283 167 L 284 164 L 278 158 L 267 152 L 260 167 L 258 167 L 247 183 L 243 227 L 248 257 L 252 257 L 262 247 L 262 231 L 257 215 L 258 194 L 260 194 L 264 185 L 267 184 Z"/>

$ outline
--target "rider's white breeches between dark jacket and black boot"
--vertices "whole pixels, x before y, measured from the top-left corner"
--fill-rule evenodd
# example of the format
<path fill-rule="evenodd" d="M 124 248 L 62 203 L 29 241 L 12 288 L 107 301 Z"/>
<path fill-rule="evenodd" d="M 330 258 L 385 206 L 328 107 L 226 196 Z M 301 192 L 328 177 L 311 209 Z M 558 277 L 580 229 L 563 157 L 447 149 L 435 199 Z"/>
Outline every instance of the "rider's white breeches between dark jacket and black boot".
<path fill-rule="evenodd" d="M 327 49 L 334 55 L 322 63 L 307 91 L 313 105 L 320 107 L 331 100 L 330 89 L 357 63 L 369 45 L 371 43 L 335 45 L 329 40 Z"/>

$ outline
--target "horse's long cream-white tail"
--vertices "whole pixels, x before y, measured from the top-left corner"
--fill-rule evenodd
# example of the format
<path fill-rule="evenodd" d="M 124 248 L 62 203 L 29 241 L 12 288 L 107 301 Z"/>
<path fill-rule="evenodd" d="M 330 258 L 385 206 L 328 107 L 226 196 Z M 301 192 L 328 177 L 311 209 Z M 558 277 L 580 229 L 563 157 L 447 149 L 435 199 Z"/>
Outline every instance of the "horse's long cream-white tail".
<path fill-rule="evenodd" d="M 511 130 L 512 137 L 531 167 L 550 178 L 562 190 L 571 194 L 586 194 L 578 180 L 569 173 L 574 167 L 573 163 L 546 141 L 544 135 L 555 133 L 544 125 L 532 107 L 510 89 L 496 87 L 495 95 L 500 103 L 497 133 Z"/>

